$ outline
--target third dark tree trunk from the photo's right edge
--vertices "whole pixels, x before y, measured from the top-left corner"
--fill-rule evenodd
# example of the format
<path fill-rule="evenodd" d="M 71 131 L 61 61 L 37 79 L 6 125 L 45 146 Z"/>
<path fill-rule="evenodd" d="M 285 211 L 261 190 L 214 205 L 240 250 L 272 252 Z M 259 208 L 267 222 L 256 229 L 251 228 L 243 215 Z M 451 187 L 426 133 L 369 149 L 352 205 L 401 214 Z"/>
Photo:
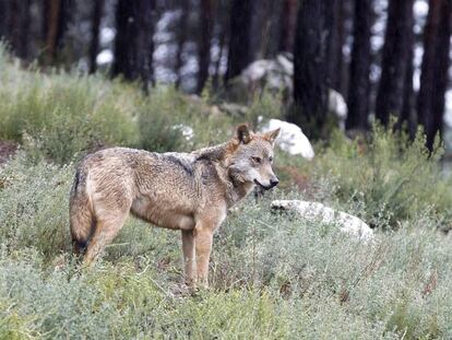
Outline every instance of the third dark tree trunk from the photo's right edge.
<path fill-rule="evenodd" d="M 368 129 L 372 17 L 372 0 L 355 0 L 347 129 Z"/>

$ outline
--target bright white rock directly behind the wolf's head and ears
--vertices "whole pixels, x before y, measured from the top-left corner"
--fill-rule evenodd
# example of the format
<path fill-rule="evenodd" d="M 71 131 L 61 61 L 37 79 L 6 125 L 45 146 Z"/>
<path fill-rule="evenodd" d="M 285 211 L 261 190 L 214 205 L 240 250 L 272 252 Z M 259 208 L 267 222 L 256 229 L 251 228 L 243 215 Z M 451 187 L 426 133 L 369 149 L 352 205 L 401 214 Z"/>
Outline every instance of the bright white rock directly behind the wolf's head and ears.
<path fill-rule="evenodd" d="M 302 133 L 301 129 L 295 124 L 279 119 L 270 119 L 261 131 L 266 132 L 279 128 L 281 132 L 275 143 L 285 152 L 292 155 L 301 155 L 304 159 L 312 160 L 314 151 L 309 139 Z"/>

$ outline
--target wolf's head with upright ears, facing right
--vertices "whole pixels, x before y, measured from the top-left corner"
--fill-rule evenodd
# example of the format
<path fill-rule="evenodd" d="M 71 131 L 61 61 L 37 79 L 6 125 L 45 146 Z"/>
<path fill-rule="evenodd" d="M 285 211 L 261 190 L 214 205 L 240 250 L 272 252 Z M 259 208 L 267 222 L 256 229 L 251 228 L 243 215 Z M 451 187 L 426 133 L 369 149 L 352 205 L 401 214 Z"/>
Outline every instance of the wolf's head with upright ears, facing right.
<path fill-rule="evenodd" d="M 272 168 L 273 146 L 278 133 L 279 129 L 259 134 L 248 125 L 237 127 L 229 159 L 229 175 L 236 183 L 254 184 L 266 190 L 279 183 Z"/>

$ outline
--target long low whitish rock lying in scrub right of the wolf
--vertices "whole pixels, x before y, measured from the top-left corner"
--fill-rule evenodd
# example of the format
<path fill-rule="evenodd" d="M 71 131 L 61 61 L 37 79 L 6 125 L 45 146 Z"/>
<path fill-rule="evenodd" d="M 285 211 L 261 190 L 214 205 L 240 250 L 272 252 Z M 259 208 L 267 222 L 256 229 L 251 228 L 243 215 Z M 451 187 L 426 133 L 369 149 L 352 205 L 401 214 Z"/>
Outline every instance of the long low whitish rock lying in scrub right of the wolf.
<path fill-rule="evenodd" d="M 325 207 L 322 203 L 300 200 L 275 200 L 272 202 L 272 209 L 294 211 L 308 221 L 336 224 L 341 226 L 341 232 L 365 243 L 372 242 L 374 238 L 373 231 L 366 222 L 346 212 Z"/>

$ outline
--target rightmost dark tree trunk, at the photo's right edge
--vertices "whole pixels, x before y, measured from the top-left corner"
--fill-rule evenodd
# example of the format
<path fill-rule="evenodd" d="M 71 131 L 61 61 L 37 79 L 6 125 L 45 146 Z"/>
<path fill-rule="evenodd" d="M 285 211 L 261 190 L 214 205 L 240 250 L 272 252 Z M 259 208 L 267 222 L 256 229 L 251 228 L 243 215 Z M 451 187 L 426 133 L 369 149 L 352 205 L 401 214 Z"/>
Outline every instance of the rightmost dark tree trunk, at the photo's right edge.
<path fill-rule="evenodd" d="M 417 102 L 418 119 L 424 126 L 427 134 L 426 146 L 430 151 L 433 149 L 435 137 L 442 131 L 450 65 L 451 22 L 451 1 L 430 0 L 424 33 L 424 57 Z"/>

